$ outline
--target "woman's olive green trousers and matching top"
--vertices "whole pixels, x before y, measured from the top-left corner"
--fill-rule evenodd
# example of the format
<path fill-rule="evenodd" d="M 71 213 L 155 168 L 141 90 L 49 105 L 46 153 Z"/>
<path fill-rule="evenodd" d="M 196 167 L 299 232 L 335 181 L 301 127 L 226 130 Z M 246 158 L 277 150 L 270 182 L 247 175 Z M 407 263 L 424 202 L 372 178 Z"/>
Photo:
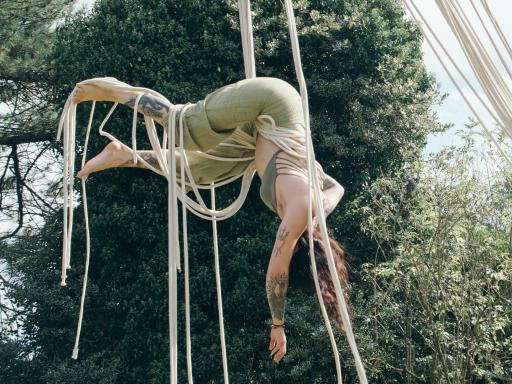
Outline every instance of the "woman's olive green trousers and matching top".
<path fill-rule="evenodd" d="M 256 145 L 255 120 L 260 115 L 271 116 L 276 127 L 281 129 L 297 124 L 304 127 L 299 93 L 287 82 L 270 77 L 245 79 L 224 86 L 185 111 L 184 148 L 197 184 L 208 185 L 243 173 L 253 161 L 254 150 L 237 147 L 236 143 L 243 139 Z M 198 152 L 233 158 L 233 161 L 205 158 Z M 277 152 L 267 165 L 260 195 L 263 202 L 277 213 L 276 157 Z M 249 159 L 235 160 L 241 158 Z M 179 161 L 177 156 L 178 173 Z"/>

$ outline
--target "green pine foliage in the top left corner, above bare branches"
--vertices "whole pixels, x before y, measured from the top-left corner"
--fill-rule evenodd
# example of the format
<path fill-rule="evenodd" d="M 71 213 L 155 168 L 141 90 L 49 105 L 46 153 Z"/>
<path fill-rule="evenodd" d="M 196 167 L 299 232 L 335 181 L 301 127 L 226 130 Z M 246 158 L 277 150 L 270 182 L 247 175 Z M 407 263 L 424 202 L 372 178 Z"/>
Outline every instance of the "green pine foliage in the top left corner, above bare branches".
<path fill-rule="evenodd" d="M 52 25 L 69 11 L 70 0 L 20 3 L 0 7 L 0 144 L 49 139 L 56 113 L 46 102 L 55 40 Z"/>

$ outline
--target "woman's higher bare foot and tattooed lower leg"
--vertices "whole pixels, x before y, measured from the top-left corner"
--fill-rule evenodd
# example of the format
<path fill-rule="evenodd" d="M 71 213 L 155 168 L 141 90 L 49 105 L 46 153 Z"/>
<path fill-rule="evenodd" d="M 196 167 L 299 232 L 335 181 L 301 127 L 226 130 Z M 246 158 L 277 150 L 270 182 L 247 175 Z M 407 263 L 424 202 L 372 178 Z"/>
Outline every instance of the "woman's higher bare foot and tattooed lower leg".
<path fill-rule="evenodd" d="M 73 102 L 78 104 L 90 100 L 111 101 L 127 105 L 133 109 L 139 94 L 138 91 L 120 89 L 101 81 L 78 83 L 75 88 Z M 143 95 L 139 100 L 137 111 L 151 117 L 159 124 L 163 124 L 169 114 L 170 107 L 169 101 L 163 97 Z"/>

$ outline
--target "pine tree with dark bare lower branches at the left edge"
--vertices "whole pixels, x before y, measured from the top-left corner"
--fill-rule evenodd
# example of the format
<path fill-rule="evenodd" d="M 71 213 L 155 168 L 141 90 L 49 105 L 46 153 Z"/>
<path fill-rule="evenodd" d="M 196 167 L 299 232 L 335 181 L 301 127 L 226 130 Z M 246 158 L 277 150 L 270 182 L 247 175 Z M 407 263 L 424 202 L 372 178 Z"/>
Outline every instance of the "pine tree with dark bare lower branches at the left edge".
<path fill-rule="evenodd" d="M 37 227 L 56 205 L 56 190 L 42 187 L 47 181 L 38 175 L 50 179 L 46 164 L 55 162 L 48 152 L 57 118 L 48 102 L 49 54 L 55 23 L 71 3 L 6 0 L 0 8 L 0 241 Z"/>

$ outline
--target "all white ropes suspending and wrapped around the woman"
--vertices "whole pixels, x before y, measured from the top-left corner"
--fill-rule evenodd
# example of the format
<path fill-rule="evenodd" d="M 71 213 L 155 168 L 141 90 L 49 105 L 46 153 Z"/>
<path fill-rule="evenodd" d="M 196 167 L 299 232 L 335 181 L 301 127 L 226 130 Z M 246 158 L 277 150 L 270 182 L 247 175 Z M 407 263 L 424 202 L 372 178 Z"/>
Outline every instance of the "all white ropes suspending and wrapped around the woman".
<path fill-rule="evenodd" d="M 311 131 L 310 131 L 310 123 L 309 123 L 309 105 L 308 105 L 308 95 L 307 88 L 304 79 L 304 75 L 302 73 L 302 64 L 300 59 L 300 51 L 299 44 L 297 38 L 295 17 L 293 13 L 293 7 L 290 0 L 285 0 L 286 14 L 288 20 L 288 27 L 291 37 L 292 43 L 292 51 L 293 51 L 293 59 L 295 64 L 295 69 L 297 72 L 297 78 L 300 85 L 300 94 L 302 99 L 302 107 L 304 111 L 304 121 L 305 126 L 305 145 L 304 148 L 299 151 L 300 153 L 296 153 L 297 156 L 303 157 L 307 160 L 307 169 L 308 169 L 308 180 L 309 180 L 309 208 L 308 208 L 308 232 L 309 232 L 309 244 L 310 244 L 310 258 L 311 258 L 311 267 L 312 274 L 314 278 L 315 288 L 318 296 L 318 300 L 320 303 L 322 316 L 325 322 L 325 325 L 328 330 L 329 339 L 331 342 L 331 347 L 333 349 L 335 364 L 336 364 L 336 373 L 337 373 L 337 381 L 338 383 L 342 382 L 341 379 L 341 368 L 339 361 L 339 353 L 336 347 L 336 341 L 334 338 L 334 334 L 332 331 L 331 324 L 329 322 L 329 318 L 327 315 L 327 311 L 325 309 L 325 305 L 323 303 L 323 299 L 320 292 L 320 287 L 318 283 L 318 277 L 316 273 L 316 264 L 314 258 L 314 250 L 313 250 L 313 215 L 312 215 L 312 203 L 315 201 L 318 209 L 318 218 L 317 222 L 320 227 L 322 239 L 325 239 L 323 243 L 326 245 L 326 253 L 329 271 L 332 276 L 332 281 L 334 282 L 334 287 L 336 291 L 336 297 L 338 300 L 338 304 L 341 310 L 341 317 L 346 333 L 346 337 L 350 348 L 352 350 L 352 354 L 354 357 L 355 367 L 357 370 L 357 374 L 359 377 L 360 383 L 367 383 L 366 374 L 364 371 L 363 364 L 361 362 L 361 358 L 359 356 L 359 352 L 357 349 L 357 345 L 354 339 L 354 335 L 352 332 L 352 325 L 350 322 L 350 317 L 347 310 L 347 305 L 345 303 L 345 295 L 343 293 L 343 288 L 341 287 L 338 274 L 336 271 L 334 258 L 332 254 L 332 249 L 330 247 L 330 242 L 327 241 L 328 233 L 327 226 L 325 223 L 325 213 L 323 210 L 323 201 L 322 201 L 322 192 L 320 186 L 318 184 L 318 170 L 315 166 L 315 154 L 313 150 L 313 144 L 311 140 Z M 247 78 L 252 78 L 256 76 L 255 69 L 255 60 L 254 60 L 254 43 L 252 38 L 252 25 L 251 25 L 251 12 L 250 12 L 250 3 L 248 0 L 240 0 L 239 1 L 239 11 L 240 11 L 240 22 L 241 22 L 241 33 L 242 33 L 242 46 L 243 46 L 243 54 L 244 54 L 244 64 L 245 64 L 245 73 Z M 245 198 L 247 196 L 252 178 L 255 173 L 255 165 L 254 161 L 250 162 L 246 169 L 239 175 L 231 177 L 227 180 L 222 180 L 218 183 L 211 183 L 209 185 L 201 185 L 195 182 L 194 175 L 191 172 L 190 164 L 187 160 L 187 153 L 184 148 L 183 143 L 183 116 L 185 115 L 185 111 L 190 107 L 190 104 L 185 105 L 171 105 L 170 113 L 168 115 L 167 121 L 167 130 L 164 130 L 162 139 L 160 140 L 154 121 L 148 116 L 144 116 L 146 131 L 148 134 L 149 141 L 151 143 L 152 149 L 157 157 L 158 165 L 160 169 L 157 169 L 147 163 L 143 158 L 141 158 L 137 154 L 137 143 L 136 143 L 136 127 L 137 127 L 137 107 L 138 103 L 143 95 L 153 95 L 157 97 L 164 98 L 161 94 L 156 91 L 153 91 L 148 88 L 142 87 L 131 87 L 128 84 L 122 83 L 113 78 L 101 78 L 101 79 L 90 79 L 86 80 L 82 83 L 99 83 L 103 82 L 109 87 L 115 87 L 120 91 L 129 90 L 131 92 L 135 91 L 138 93 L 138 96 L 135 100 L 133 119 L 132 119 L 132 145 L 127 146 L 126 144 L 119 141 L 110 133 L 106 132 L 103 128 L 110 118 L 115 108 L 117 107 L 117 103 L 112 106 L 110 111 L 107 113 L 105 119 L 102 121 L 99 127 L 99 133 L 102 136 L 109 138 L 111 141 L 116 141 L 120 145 L 123 146 L 126 150 L 128 150 L 133 155 L 134 163 L 141 161 L 144 163 L 145 167 L 153 170 L 154 172 L 164 176 L 168 182 L 168 242 L 169 242 L 169 250 L 168 250 L 168 260 L 169 260 L 169 359 L 170 359 L 170 381 L 172 384 L 178 382 L 177 378 L 177 271 L 181 271 L 181 258 L 183 256 L 184 263 L 184 272 L 185 272 L 185 321 L 186 321 L 186 353 L 187 353 L 187 373 L 188 373 L 188 382 L 193 383 L 193 375 L 192 375 L 192 357 L 191 357 L 191 338 L 190 338 L 190 301 L 189 301 L 189 285 L 188 285 L 188 242 L 187 242 L 187 212 L 192 212 L 194 215 L 201 217 L 203 219 L 207 219 L 212 221 L 212 230 L 213 230 L 213 238 L 214 238 L 214 266 L 215 266 L 215 277 L 216 277 L 216 286 L 217 286 L 217 302 L 218 302 L 218 311 L 219 311 L 219 324 L 220 324 L 220 338 L 221 338 L 221 351 L 222 351 L 222 364 L 223 364 L 223 374 L 224 374 L 224 382 L 229 383 L 229 375 L 228 375 L 228 361 L 227 361 L 227 353 L 226 353 L 226 345 L 225 345 L 225 335 L 224 335 L 224 326 L 223 326 L 223 312 L 222 312 L 222 293 L 221 293 L 221 282 L 220 282 L 220 273 L 219 273 L 219 252 L 218 252 L 218 240 L 217 240 L 217 221 L 225 220 L 231 216 L 233 216 L 242 206 Z M 73 179 L 74 179 L 74 163 L 75 163 L 75 136 L 76 136 L 76 105 L 72 102 L 73 93 L 68 97 L 66 104 L 64 106 L 64 110 L 61 116 L 61 120 L 59 123 L 59 130 L 57 133 L 57 137 L 60 138 L 63 136 L 63 147 L 64 147 L 64 235 L 63 235 L 63 257 L 62 257 L 62 275 L 61 275 L 61 285 L 66 284 L 66 271 L 70 267 L 70 255 L 71 255 L 71 233 L 73 228 Z M 85 138 L 85 146 L 82 157 L 82 166 L 85 164 L 85 156 L 87 152 L 87 144 L 89 139 L 89 133 L 92 126 L 93 115 L 94 115 L 95 103 L 93 102 L 88 126 L 86 129 L 86 138 Z M 178 120 L 178 121 L 177 121 Z M 260 115 L 256 121 L 258 125 L 258 132 L 263 136 L 271 139 L 274 143 L 276 143 L 279 147 L 283 149 L 287 149 L 288 151 L 293 148 L 293 144 L 296 143 L 297 138 L 304 136 L 304 130 L 279 130 L 276 128 L 275 121 L 271 116 L 268 115 Z M 176 137 L 177 136 L 177 137 Z M 254 138 L 250 136 L 239 135 L 235 137 L 235 143 L 233 145 L 240 146 L 240 148 L 247 149 L 255 149 L 255 141 Z M 222 143 L 221 143 L 222 144 Z M 170 150 L 175 149 L 175 150 Z M 207 156 L 206 154 L 204 154 Z M 177 164 L 177 156 L 180 157 L 180 172 L 179 177 L 176 172 L 176 164 Z M 221 158 L 216 158 L 216 160 L 222 161 Z M 226 161 L 233 161 L 232 158 L 225 159 Z M 247 160 L 247 159 L 243 159 Z M 230 204 L 228 207 L 223 209 L 217 209 L 215 205 L 215 188 L 221 185 L 225 185 L 230 183 L 239 177 L 242 178 L 241 188 L 239 196 L 235 199 L 235 201 Z M 202 199 L 199 189 L 208 189 L 211 194 L 212 206 L 208 207 L 204 200 Z M 89 260 L 90 260 L 90 235 L 89 235 L 89 222 L 88 222 L 88 212 L 87 212 L 87 195 L 86 195 L 86 186 L 85 181 L 82 180 L 82 190 L 83 190 L 83 208 L 85 215 L 85 226 L 86 226 L 86 260 L 85 260 L 85 276 L 82 287 L 82 297 L 80 301 L 80 312 L 78 318 L 78 326 L 77 333 L 75 339 L 75 346 L 73 348 L 72 357 L 74 359 L 78 356 L 78 344 L 80 338 L 80 331 L 83 319 L 83 311 L 84 311 L 84 301 L 85 301 L 85 293 L 87 289 L 87 273 L 89 268 Z M 187 195 L 188 191 L 192 191 L 195 197 L 195 200 Z M 178 215 L 178 202 L 182 204 L 182 246 L 183 249 L 180 248 L 180 239 L 179 239 L 179 215 Z M 183 255 L 182 255 L 183 252 Z"/>

